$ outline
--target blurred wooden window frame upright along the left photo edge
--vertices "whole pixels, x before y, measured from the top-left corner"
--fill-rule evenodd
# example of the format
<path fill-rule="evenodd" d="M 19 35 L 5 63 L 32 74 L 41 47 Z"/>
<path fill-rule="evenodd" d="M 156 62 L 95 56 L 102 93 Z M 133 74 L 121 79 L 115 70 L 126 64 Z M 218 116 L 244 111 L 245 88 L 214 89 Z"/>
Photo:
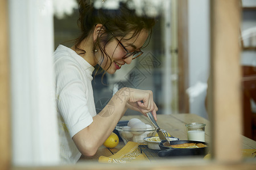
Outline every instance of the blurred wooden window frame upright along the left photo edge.
<path fill-rule="evenodd" d="M 10 64 L 7 9 L 8 1 L 0 2 L 0 167 L 11 167 L 11 126 L 10 126 Z"/>

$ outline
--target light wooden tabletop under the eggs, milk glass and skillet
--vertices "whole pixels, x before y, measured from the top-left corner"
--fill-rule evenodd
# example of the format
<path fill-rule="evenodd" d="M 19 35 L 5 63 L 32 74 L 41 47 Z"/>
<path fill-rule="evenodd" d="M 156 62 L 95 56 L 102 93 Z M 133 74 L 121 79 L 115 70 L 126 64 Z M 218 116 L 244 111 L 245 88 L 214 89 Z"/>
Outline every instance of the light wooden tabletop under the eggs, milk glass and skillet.
<path fill-rule="evenodd" d="M 139 118 L 144 123 L 151 125 L 151 122 L 148 120 L 148 118 L 146 116 L 143 116 L 142 114 L 133 116 L 123 116 L 121 120 L 130 120 L 131 118 Z M 187 128 L 185 127 L 185 124 L 190 122 L 201 122 L 206 124 L 207 126 L 205 126 L 205 142 L 210 142 L 210 122 L 203 117 L 197 116 L 196 114 L 159 114 L 157 121 L 161 129 L 168 131 L 168 133 L 170 133 L 172 136 L 176 138 L 180 138 L 180 140 L 187 140 Z M 256 148 L 256 141 L 246 138 L 243 135 L 241 135 L 241 137 L 242 148 Z M 97 162 L 98 158 L 101 155 L 111 156 L 118 152 L 123 146 L 125 146 L 125 143 L 123 142 L 119 142 L 118 146 L 115 148 L 106 148 L 105 146 L 101 146 L 100 148 L 98 148 L 96 155 L 90 158 L 82 156 L 80 161 L 89 160 Z"/>

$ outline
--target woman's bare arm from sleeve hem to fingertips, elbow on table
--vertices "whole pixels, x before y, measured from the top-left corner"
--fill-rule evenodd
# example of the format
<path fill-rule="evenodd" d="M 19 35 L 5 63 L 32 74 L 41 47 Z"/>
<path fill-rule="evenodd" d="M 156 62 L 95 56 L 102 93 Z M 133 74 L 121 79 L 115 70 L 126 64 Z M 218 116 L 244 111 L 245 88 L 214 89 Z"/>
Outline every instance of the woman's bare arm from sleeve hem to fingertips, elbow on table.
<path fill-rule="evenodd" d="M 93 117 L 93 122 L 88 127 L 82 129 L 73 136 L 79 151 L 86 156 L 96 154 L 98 147 L 105 142 L 110 133 L 117 125 L 127 107 L 146 115 L 152 112 L 156 119 L 156 107 L 151 91 L 137 90 L 133 88 L 122 88 L 110 99 L 109 103 L 97 116 Z"/>

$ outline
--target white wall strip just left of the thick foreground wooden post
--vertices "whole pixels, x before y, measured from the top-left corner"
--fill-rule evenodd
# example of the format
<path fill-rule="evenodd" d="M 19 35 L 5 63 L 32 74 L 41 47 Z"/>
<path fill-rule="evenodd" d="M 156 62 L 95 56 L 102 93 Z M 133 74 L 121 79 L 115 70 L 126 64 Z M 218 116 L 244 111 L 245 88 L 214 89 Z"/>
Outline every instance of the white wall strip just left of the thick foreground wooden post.
<path fill-rule="evenodd" d="M 209 15 L 209 0 L 188 1 L 189 112 L 204 118 L 208 118 L 204 100 L 210 59 Z"/>

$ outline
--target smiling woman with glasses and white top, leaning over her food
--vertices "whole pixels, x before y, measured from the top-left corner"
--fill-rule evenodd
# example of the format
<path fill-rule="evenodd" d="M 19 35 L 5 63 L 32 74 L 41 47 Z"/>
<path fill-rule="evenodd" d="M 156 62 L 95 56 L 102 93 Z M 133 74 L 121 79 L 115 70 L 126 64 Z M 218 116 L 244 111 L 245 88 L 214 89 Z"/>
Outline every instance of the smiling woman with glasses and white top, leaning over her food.
<path fill-rule="evenodd" d="M 59 45 L 54 54 L 60 152 L 67 163 L 76 163 L 81 154 L 93 156 L 127 108 L 152 112 L 155 119 L 158 111 L 151 91 L 122 88 L 96 114 L 92 90 L 94 66 L 114 74 L 141 56 L 154 19 L 136 16 L 124 3 L 118 10 L 96 10 L 80 1 L 79 12 L 82 35 L 71 48 Z"/>

